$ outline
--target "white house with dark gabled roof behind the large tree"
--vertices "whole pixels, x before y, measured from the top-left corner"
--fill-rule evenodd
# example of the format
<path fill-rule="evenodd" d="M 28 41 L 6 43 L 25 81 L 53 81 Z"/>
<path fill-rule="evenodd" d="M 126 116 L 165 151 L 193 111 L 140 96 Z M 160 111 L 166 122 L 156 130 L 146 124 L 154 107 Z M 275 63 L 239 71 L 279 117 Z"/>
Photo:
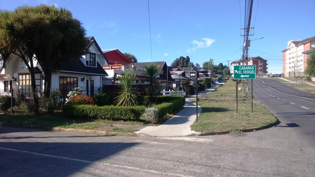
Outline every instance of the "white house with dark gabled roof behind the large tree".
<path fill-rule="evenodd" d="M 94 90 L 102 87 L 102 77 L 108 76 L 101 65 L 108 65 L 108 61 L 101 51 L 94 37 L 89 40 L 88 51 L 80 60 L 68 60 L 60 66 L 59 71 L 54 71 L 51 77 L 51 88 L 71 91 L 75 87 L 84 87 Z M 43 89 L 43 72 L 37 61 L 33 61 L 37 88 Z M 30 89 L 31 77 L 24 63 L 18 56 L 3 67 L 0 62 L 0 89 L 9 91 L 13 89 Z"/>

